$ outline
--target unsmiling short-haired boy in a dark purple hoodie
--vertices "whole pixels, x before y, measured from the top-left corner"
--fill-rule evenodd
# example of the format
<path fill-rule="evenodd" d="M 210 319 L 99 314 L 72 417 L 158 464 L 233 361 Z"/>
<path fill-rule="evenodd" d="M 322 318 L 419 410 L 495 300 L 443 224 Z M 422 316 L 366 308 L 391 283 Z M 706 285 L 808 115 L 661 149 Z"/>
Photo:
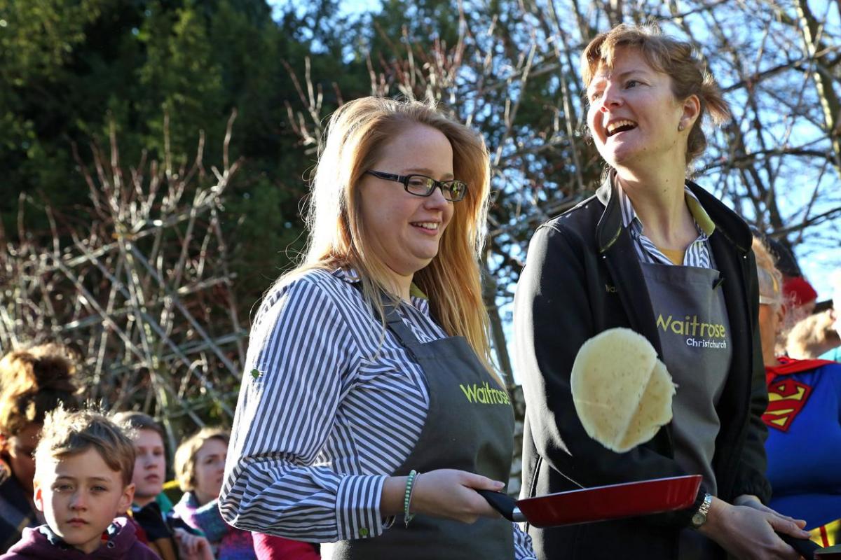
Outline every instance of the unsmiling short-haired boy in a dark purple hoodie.
<path fill-rule="evenodd" d="M 94 558 L 156 560 L 125 517 L 131 503 L 135 448 L 93 411 L 47 414 L 35 451 L 34 501 L 46 524 L 24 529 L 3 560 Z"/>

